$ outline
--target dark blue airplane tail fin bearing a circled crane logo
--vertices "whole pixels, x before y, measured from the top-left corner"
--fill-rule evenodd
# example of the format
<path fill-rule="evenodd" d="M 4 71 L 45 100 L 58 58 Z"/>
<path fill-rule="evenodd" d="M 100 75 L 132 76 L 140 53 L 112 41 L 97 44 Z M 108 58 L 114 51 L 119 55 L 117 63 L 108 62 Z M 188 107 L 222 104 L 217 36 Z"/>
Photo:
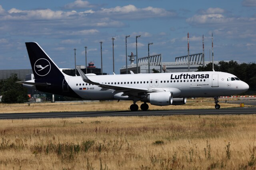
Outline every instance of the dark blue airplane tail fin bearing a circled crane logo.
<path fill-rule="evenodd" d="M 38 43 L 26 43 L 35 79 L 62 78 L 64 74 Z"/>

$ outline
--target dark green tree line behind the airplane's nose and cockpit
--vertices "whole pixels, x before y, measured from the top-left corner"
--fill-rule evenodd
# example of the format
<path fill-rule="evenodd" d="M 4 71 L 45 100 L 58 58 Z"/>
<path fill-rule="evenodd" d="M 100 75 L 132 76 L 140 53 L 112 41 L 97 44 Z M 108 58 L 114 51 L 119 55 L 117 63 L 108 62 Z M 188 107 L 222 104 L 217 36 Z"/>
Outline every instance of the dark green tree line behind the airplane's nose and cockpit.
<path fill-rule="evenodd" d="M 198 71 L 212 71 L 212 63 L 206 66 L 199 66 Z M 255 63 L 242 63 L 238 64 L 236 61 L 220 61 L 214 64 L 214 71 L 228 72 L 234 74 L 240 80 L 246 82 L 250 89 L 256 88 L 256 64 Z"/>

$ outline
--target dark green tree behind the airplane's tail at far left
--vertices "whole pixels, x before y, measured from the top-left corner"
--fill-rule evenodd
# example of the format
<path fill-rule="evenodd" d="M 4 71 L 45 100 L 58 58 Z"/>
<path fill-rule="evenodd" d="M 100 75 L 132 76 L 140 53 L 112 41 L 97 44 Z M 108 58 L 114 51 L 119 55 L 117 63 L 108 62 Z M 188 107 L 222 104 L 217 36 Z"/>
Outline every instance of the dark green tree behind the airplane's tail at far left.
<path fill-rule="evenodd" d="M 16 82 L 20 81 L 17 74 L 0 83 L 0 95 L 3 103 L 24 103 L 28 101 L 27 89 Z"/>

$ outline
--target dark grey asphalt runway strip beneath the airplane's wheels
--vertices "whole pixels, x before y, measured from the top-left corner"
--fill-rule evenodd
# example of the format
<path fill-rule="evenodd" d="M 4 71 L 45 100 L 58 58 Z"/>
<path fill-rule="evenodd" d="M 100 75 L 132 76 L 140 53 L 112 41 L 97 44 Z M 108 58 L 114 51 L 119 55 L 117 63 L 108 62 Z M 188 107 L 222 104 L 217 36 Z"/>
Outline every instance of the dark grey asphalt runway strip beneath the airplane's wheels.
<path fill-rule="evenodd" d="M 229 109 L 188 109 L 188 110 L 149 110 L 149 111 L 79 111 L 44 113 L 2 113 L 0 119 L 38 119 L 64 117 L 100 116 L 162 116 L 162 115 L 242 115 L 256 114 L 256 107 Z"/>

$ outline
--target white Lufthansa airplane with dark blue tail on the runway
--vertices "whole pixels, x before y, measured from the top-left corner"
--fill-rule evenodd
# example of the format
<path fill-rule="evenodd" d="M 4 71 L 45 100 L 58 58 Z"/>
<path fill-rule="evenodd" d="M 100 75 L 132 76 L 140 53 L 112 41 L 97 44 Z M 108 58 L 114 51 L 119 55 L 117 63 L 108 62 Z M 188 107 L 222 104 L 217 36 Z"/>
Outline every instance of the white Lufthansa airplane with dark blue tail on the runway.
<path fill-rule="evenodd" d="M 183 105 L 187 98 L 214 97 L 219 109 L 219 96 L 246 92 L 248 84 L 226 72 L 173 72 L 156 74 L 68 76 L 50 59 L 38 43 L 26 43 L 35 80 L 22 83 L 24 87 L 42 92 L 86 100 L 132 100 L 131 111 L 137 111 L 136 102 L 156 106 Z"/>

